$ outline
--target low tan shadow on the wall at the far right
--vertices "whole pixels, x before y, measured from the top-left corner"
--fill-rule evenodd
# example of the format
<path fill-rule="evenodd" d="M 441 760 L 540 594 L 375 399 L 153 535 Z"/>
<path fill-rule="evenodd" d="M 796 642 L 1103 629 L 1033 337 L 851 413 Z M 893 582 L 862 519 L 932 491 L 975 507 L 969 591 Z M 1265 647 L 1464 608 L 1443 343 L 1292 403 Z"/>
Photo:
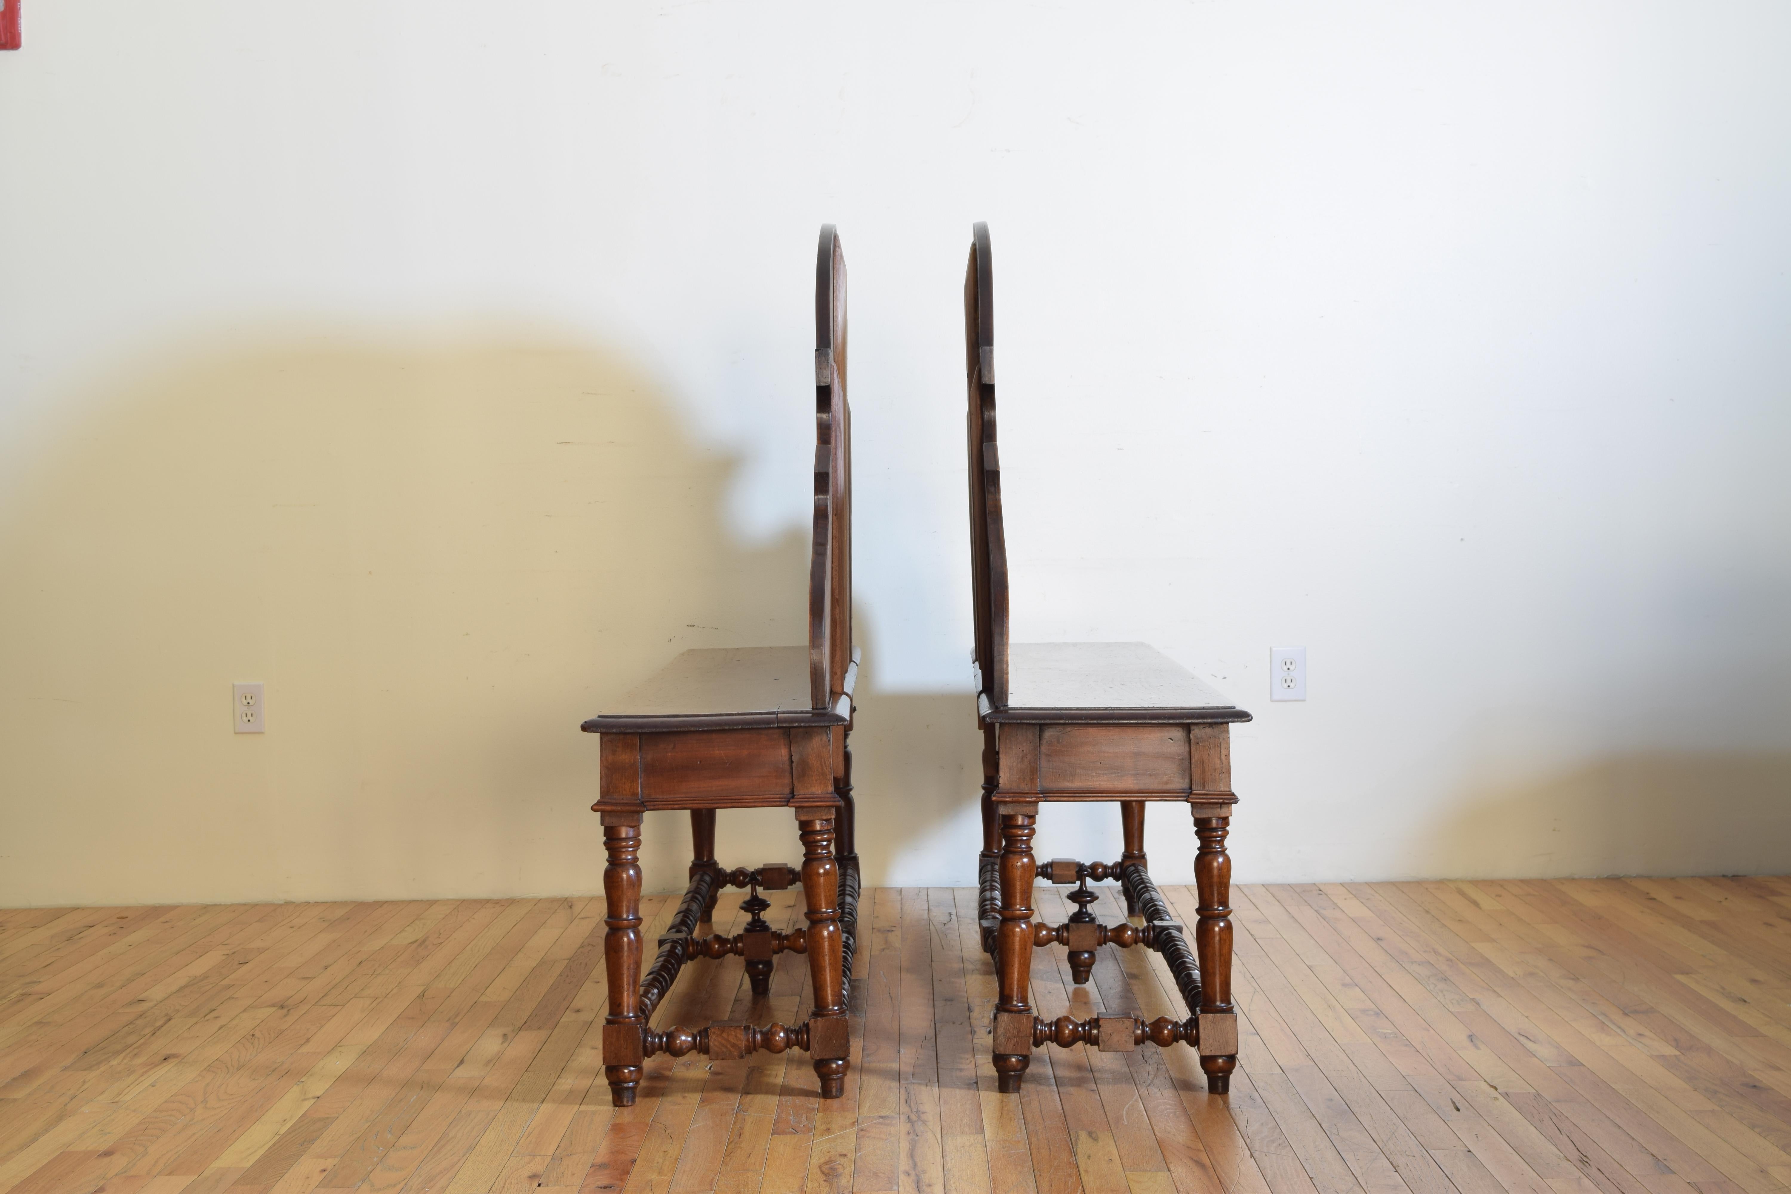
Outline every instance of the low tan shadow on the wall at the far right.
<path fill-rule="evenodd" d="M 1420 847 L 1460 877 L 1773 874 L 1791 754 L 1635 752 L 1463 800 Z"/>

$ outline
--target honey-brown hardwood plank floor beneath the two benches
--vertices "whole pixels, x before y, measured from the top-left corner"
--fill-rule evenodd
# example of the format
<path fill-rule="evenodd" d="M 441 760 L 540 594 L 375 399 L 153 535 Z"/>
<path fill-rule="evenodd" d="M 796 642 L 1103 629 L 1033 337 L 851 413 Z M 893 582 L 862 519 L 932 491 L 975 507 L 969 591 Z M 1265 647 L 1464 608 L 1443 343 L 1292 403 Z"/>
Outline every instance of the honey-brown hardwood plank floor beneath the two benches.
<path fill-rule="evenodd" d="M 593 1028 L 600 899 L 0 911 L 0 1190 L 1791 1187 L 1791 881 L 1234 899 L 1229 1099 L 1186 1047 L 1053 1047 L 994 1094 L 976 893 L 935 888 L 863 900 L 845 1099 L 813 1097 L 801 1053 L 693 1054 L 650 1062 L 627 1110 Z M 648 900 L 647 940 L 670 911 Z M 657 1019 L 795 1022 L 804 974 L 752 1008 L 738 958 L 698 961 Z M 1173 990 L 1139 949 L 1085 988 L 1062 947 L 1035 958 L 1048 1017 L 1175 1015 Z"/>

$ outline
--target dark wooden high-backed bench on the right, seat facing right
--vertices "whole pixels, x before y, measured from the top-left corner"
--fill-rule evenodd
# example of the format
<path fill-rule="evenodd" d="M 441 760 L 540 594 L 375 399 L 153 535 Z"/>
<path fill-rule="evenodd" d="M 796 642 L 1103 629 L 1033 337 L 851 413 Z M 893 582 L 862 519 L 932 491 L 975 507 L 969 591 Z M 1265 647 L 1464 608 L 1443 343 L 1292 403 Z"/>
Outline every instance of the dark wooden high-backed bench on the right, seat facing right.
<path fill-rule="evenodd" d="M 1238 1065 L 1230 999 L 1229 725 L 1250 714 L 1144 643 L 1008 643 L 1007 541 L 996 451 L 994 281 L 989 226 L 978 224 L 964 279 L 969 372 L 971 566 L 976 600 L 978 721 L 983 729 L 981 940 L 996 958 L 994 1067 L 1003 1094 L 1017 1094 L 1033 1047 L 1089 1044 L 1132 1051 L 1184 1042 L 1200 1051 L 1207 1090 L 1225 1094 Z M 1066 924 L 1032 920 L 1032 856 L 1039 806 L 1053 800 L 1119 802 L 1125 852 L 1112 863 L 1051 859 L 1051 883 L 1076 884 Z M 1195 818 L 1200 893 L 1195 951 L 1150 879 L 1144 802 L 1175 800 Z M 1089 879 L 1118 879 L 1143 924 L 1103 925 L 1089 911 Z M 1143 945 L 1162 954 L 1186 1020 L 1130 1015 L 1042 1020 L 1028 1002 L 1032 951 L 1067 945 L 1071 977 L 1087 983 L 1100 945 Z M 1196 958 L 1198 954 L 1198 958 Z"/>

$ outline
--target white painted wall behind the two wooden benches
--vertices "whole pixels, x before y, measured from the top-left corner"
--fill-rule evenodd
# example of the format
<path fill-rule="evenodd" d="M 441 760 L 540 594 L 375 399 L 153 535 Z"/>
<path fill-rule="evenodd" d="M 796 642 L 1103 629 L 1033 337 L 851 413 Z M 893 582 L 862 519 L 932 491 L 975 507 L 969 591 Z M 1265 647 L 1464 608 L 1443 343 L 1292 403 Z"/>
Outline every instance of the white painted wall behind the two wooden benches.
<path fill-rule="evenodd" d="M 0 55 L 0 902 L 595 890 L 577 721 L 684 646 L 801 637 L 822 220 L 869 881 L 974 877 L 976 218 L 1017 637 L 1148 639 L 1255 711 L 1239 879 L 1787 870 L 1787 36 L 1773 4 L 34 4 Z M 1272 644 L 1307 704 L 1268 704 Z M 1041 852 L 1114 820 L 1050 809 Z M 682 829 L 648 838 L 670 888 Z"/>

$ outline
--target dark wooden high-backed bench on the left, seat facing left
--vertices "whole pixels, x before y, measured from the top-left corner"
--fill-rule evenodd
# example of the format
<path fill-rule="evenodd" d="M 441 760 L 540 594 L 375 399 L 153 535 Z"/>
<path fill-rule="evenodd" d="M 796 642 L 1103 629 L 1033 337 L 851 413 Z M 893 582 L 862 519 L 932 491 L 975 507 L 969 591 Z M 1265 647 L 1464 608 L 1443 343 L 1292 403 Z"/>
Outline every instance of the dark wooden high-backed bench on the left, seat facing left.
<path fill-rule="evenodd" d="M 600 734 L 600 798 L 609 972 L 604 1069 L 611 1101 L 632 1106 L 641 1063 L 656 1053 L 711 1060 L 758 1049 L 806 1049 L 820 1097 L 845 1090 L 845 983 L 858 920 L 853 843 L 853 516 L 851 410 L 845 401 L 845 258 L 827 224 L 815 269 L 815 530 L 810 557 L 808 646 L 691 650 L 673 659 L 580 729 Z M 801 870 L 788 865 L 724 870 L 715 861 L 718 809 L 790 807 L 802 838 Z M 690 811 L 690 888 L 641 977 L 641 816 Z M 835 845 L 838 841 L 838 854 Z M 759 890 L 802 884 L 808 927 L 774 931 Z M 706 934 L 722 888 L 749 888 L 752 913 L 736 936 Z M 808 954 L 815 1004 L 797 1026 L 711 1024 L 650 1028 L 679 970 L 697 958 L 745 958 L 754 995 L 770 990 L 772 958 Z"/>

